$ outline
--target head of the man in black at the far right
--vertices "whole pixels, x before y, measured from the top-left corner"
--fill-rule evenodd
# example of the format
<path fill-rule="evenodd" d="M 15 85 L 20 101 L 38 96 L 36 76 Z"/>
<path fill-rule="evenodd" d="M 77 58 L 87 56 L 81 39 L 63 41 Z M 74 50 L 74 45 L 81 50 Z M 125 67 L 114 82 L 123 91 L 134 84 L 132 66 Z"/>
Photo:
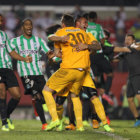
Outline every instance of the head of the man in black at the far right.
<path fill-rule="evenodd" d="M 127 34 L 125 36 L 125 45 L 130 46 L 133 43 L 135 43 L 135 36 L 133 34 Z"/>

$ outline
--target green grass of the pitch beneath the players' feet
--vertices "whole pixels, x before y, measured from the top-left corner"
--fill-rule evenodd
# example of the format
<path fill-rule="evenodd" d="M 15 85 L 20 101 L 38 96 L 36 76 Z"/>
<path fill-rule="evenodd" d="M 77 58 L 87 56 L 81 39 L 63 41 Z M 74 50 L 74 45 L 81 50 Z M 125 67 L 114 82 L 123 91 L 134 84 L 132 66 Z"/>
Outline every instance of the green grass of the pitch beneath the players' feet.
<path fill-rule="evenodd" d="M 113 133 L 106 133 L 104 129 L 87 127 L 84 132 L 40 131 L 41 124 L 36 120 L 15 120 L 16 129 L 10 132 L 0 130 L 0 140 L 140 140 L 140 127 L 133 128 L 133 121 L 112 121 Z"/>

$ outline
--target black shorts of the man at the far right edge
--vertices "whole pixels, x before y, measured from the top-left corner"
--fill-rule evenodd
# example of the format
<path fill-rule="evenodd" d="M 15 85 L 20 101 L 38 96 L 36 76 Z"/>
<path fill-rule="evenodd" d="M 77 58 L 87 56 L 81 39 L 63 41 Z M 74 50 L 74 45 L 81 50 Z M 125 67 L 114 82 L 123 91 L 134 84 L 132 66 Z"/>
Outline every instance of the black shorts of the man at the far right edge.
<path fill-rule="evenodd" d="M 140 94 L 140 75 L 133 76 L 127 82 L 127 97 L 134 97 Z"/>

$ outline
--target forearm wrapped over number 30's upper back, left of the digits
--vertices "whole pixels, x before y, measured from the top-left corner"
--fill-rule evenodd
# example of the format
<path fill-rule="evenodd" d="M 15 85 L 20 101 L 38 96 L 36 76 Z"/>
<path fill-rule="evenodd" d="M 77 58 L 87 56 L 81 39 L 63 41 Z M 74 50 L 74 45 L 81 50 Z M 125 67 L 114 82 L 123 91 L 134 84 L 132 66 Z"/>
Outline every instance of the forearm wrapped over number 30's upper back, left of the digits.
<path fill-rule="evenodd" d="M 51 40 L 53 42 L 67 42 L 69 40 L 69 36 L 57 36 L 55 34 L 52 34 L 48 37 L 48 40 Z"/>

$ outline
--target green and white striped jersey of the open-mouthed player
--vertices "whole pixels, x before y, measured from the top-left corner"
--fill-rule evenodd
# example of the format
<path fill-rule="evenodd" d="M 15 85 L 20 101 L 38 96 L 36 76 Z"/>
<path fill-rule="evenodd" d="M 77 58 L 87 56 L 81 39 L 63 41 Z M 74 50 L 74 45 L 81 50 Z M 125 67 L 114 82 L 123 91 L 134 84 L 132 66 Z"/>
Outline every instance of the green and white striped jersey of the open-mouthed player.
<path fill-rule="evenodd" d="M 47 53 L 50 48 L 46 45 L 46 42 L 36 36 L 32 36 L 27 39 L 23 35 L 13 38 L 8 42 L 8 51 L 15 50 L 20 56 L 26 57 L 27 55 L 32 56 L 32 62 L 26 63 L 18 61 L 17 68 L 20 76 L 27 75 L 42 75 L 42 66 L 40 63 L 40 52 L 44 51 Z"/>

